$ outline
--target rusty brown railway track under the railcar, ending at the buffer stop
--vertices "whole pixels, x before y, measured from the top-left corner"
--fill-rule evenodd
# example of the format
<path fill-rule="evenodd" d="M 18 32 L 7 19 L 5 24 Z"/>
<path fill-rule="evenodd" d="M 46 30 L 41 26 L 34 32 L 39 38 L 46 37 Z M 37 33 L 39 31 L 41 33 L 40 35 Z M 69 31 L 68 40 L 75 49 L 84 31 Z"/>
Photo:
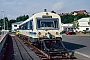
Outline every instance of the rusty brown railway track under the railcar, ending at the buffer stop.
<path fill-rule="evenodd" d="M 75 57 L 66 57 L 65 54 L 57 54 L 57 53 L 50 53 L 49 55 L 44 53 L 42 50 L 40 50 L 39 48 L 35 47 L 32 43 L 30 43 L 27 39 L 23 39 L 23 37 L 18 37 L 18 40 L 22 40 L 22 42 L 28 47 L 30 48 L 32 51 L 34 51 L 36 53 L 37 56 L 39 56 L 41 58 L 41 60 L 75 60 Z M 65 53 L 65 52 L 63 52 Z M 56 56 L 55 56 L 56 55 Z M 54 56 L 54 57 L 52 57 Z"/>

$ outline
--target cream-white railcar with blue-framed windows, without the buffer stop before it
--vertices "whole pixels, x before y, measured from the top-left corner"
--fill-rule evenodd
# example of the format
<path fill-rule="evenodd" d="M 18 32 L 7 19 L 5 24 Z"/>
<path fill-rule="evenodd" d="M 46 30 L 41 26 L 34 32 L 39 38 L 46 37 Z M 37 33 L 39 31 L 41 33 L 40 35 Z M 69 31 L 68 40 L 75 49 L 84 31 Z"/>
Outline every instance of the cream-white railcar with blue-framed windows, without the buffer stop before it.
<path fill-rule="evenodd" d="M 31 42 L 62 39 L 61 18 L 51 12 L 36 13 L 20 24 L 19 35 L 27 37 Z"/>

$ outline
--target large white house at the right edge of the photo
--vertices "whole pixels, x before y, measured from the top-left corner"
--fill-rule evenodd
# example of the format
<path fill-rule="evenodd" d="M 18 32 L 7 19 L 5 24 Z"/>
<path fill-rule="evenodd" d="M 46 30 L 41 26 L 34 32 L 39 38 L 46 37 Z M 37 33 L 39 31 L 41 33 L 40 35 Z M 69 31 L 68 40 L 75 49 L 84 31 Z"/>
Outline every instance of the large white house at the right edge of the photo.
<path fill-rule="evenodd" d="M 78 20 L 78 23 L 79 23 L 79 27 L 77 29 L 77 31 L 90 31 L 90 25 L 89 25 L 89 22 L 90 22 L 90 17 L 89 18 L 81 18 Z"/>

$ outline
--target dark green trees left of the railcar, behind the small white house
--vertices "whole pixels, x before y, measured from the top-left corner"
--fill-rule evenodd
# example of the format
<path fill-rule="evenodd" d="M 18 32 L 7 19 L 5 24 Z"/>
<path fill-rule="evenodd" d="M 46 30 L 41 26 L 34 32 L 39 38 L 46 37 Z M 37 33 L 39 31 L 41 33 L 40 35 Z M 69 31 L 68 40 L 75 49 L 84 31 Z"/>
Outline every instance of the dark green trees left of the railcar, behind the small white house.
<path fill-rule="evenodd" d="M 28 15 L 19 16 L 16 18 L 16 20 L 15 19 L 8 20 L 8 18 L 5 17 L 4 18 L 5 19 L 5 29 L 11 30 L 12 23 L 19 22 L 19 21 L 25 21 L 28 18 L 29 18 Z M 4 27 L 3 19 L 0 19 L 0 26 L 1 26 L 0 30 L 2 30 Z"/>

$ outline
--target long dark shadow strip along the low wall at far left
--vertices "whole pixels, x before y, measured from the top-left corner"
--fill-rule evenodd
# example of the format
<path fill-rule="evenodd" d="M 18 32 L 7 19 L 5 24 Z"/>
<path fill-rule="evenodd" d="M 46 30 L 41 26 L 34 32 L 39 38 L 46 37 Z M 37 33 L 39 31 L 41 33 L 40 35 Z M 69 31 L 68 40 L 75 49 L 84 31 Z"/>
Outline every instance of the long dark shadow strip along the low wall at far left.
<path fill-rule="evenodd" d="M 5 56 L 4 56 L 3 60 L 13 60 L 14 50 L 13 50 L 12 38 L 11 38 L 10 35 L 7 37 L 6 42 L 7 42 L 8 45 L 7 45 Z"/>

